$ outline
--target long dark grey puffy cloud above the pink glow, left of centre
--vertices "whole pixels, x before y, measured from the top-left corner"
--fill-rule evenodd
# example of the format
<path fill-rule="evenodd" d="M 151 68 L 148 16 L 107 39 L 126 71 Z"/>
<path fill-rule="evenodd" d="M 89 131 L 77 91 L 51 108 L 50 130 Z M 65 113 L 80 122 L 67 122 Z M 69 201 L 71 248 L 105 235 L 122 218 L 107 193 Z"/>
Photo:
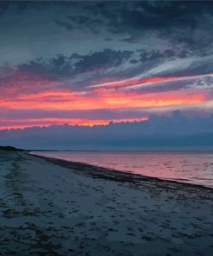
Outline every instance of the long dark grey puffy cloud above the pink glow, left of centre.
<path fill-rule="evenodd" d="M 133 54 L 131 51 L 115 51 L 104 49 L 88 55 L 72 54 L 69 57 L 58 55 L 49 61 L 42 59 L 30 61 L 18 67 L 20 71 L 42 74 L 56 78 L 70 77 L 74 74 L 92 72 L 95 70 L 118 67 L 122 61 L 127 61 Z"/>

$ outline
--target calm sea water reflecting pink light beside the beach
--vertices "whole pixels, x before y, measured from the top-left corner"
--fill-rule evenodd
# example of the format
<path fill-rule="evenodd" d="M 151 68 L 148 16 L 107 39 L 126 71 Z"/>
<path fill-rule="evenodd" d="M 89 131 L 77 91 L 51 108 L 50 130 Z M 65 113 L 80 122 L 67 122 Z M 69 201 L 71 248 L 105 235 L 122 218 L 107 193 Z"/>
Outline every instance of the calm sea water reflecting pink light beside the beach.
<path fill-rule="evenodd" d="M 36 151 L 46 157 L 213 188 L 213 153 Z"/>

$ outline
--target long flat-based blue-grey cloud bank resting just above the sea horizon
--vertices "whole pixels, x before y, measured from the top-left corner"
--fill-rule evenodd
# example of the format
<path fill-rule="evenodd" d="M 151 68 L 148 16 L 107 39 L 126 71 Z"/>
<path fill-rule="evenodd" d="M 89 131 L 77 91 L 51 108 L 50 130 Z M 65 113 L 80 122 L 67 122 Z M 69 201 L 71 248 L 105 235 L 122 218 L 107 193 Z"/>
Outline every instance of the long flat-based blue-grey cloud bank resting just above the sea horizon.
<path fill-rule="evenodd" d="M 1 123 L 0 123 L 1 125 Z M 51 125 L 0 131 L 1 144 L 27 149 L 142 149 L 212 146 L 213 117 L 186 117 L 179 111 L 147 121 L 109 125 Z M 81 136 L 78 136 L 78 135 Z"/>

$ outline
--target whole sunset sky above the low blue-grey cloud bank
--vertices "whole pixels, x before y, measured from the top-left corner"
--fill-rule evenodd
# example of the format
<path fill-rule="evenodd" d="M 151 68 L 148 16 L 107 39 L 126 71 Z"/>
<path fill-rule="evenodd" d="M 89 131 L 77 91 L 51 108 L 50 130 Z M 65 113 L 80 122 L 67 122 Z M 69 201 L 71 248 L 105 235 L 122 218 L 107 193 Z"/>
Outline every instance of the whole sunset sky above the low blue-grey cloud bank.
<path fill-rule="evenodd" d="M 213 2 L 0 2 L 0 130 L 213 110 Z"/>

